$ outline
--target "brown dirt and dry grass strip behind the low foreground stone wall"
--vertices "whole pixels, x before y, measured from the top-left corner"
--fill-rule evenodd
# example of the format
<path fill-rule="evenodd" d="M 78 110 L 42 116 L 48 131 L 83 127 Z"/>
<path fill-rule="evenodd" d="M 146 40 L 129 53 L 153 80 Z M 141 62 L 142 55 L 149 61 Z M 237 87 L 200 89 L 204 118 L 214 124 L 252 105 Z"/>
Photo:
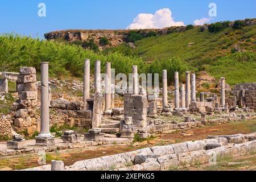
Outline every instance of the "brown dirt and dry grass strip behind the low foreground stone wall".
<path fill-rule="evenodd" d="M 119 154 L 121 152 L 133 151 L 149 146 L 205 139 L 208 137 L 208 135 L 229 135 L 238 133 L 247 134 L 253 132 L 256 132 L 256 119 L 225 123 L 222 125 L 204 126 L 197 129 L 175 131 L 174 133 L 161 134 L 152 140 L 136 142 L 131 145 L 112 144 L 106 146 L 93 146 L 88 148 L 49 152 L 46 155 L 46 161 L 47 164 L 49 164 L 51 163 L 51 160 L 63 160 L 65 165 L 69 166 L 78 160 Z M 2 157 L 0 158 L 0 168 L 9 167 L 7 169 L 24 169 L 39 166 L 37 162 L 38 158 L 39 156 L 37 154 Z"/>

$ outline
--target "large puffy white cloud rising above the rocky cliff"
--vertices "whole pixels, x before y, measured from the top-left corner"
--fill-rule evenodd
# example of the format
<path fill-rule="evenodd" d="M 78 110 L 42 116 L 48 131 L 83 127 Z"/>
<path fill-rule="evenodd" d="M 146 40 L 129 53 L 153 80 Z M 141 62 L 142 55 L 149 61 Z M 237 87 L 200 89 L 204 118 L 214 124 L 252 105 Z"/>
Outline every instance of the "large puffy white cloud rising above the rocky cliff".
<path fill-rule="evenodd" d="M 160 9 L 155 14 L 138 14 L 126 29 L 164 28 L 184 26 L 183 22 L 175 22 L 170 9 Z"/>

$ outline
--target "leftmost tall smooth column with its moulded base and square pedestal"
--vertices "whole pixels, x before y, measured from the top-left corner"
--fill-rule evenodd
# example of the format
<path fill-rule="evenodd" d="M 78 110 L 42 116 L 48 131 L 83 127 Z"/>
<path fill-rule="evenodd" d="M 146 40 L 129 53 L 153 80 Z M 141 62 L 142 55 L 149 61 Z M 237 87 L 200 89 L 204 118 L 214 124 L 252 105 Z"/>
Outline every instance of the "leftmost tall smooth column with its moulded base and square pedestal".
<path fill-rule="evenodd" d="M 36 145 L 54 146 L 55 142 L 49 131 L 49 82 L 48 62 L 41 63 L 41 122 L 40 133 L 36 137 Z"/>

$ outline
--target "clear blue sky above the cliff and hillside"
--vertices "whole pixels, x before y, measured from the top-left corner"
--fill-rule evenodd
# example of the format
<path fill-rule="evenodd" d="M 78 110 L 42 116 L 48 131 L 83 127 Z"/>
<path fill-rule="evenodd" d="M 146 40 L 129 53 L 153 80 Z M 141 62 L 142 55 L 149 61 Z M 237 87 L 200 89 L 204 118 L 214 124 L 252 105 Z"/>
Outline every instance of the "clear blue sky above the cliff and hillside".
<path fill-rule="evenodd" d="M 46 4 L 46 17 L 38 16 L 38 4 Z M 3 0 L 0 3 L 0 32 L 40 36 L 67 29 L 125 29 L 140 13 L 154 14 L 168 8 L 175 22 L 193 24 L 209 18 L 208 5 L 216 3 L 217 17 L 210 21 L 256 18 L 255 0 Z"/>

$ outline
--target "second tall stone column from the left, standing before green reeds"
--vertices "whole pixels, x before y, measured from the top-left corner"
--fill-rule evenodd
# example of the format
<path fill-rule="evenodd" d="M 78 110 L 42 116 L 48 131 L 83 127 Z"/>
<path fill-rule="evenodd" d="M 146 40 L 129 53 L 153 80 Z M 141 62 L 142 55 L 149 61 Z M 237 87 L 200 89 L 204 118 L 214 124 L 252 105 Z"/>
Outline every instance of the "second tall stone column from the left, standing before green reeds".
<path fill-rule="evenodd" d="M 89 104 L 86 99 L 90 98 L 90 60 L 84 60 L 84 88 L 82 93 L 82 100 L 84 101 L 84 110 L 89 109 Z"/>

